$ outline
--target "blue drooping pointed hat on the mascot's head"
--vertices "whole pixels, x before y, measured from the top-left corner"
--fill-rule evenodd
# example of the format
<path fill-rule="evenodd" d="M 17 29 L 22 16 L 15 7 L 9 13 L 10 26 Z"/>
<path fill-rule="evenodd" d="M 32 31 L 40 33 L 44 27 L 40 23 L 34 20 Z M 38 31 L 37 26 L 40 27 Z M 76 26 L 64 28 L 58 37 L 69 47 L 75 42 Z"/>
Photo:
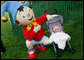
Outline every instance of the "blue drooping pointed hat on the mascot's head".
<path fill-rule="evenodd" d="M 13 21 L 14 21 L 14 23 L 15 23 L 15 21 L 16 21 L 17 9 L 18 9 L 20 6 L 29 6 L 29 5 L 20 3 L 20 2 L 18 2 L 18 1 L 8 1 L 8 2 L 4 3 L 4 4 L 1 6 L 2 16 L 4 16 L 4 13 L 5 13 L 5 12 L 11 13 L 11 15 L 12 15 L 12 17 L 13 17 Z"/>

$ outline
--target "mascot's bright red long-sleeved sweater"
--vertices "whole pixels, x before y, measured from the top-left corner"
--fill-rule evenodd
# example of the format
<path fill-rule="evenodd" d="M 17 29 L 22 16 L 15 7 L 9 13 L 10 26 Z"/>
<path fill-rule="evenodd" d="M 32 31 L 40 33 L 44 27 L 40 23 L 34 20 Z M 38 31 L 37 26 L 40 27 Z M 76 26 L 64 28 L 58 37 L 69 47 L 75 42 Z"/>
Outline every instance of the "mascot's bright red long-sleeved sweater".
<path fill-rule="evenodd" d="M 35 33 L 33 31 L 34 26 L 32 26 L 30 31 L 27 31 L 27 26 L 23 26 L 23 33 L 26 39 L 28 39 L 29 41 L 31 41 L 32 39 L 34 39 L 35 41 L 41 41 L 42 37 L 45 35 L 45 31 L 42 27 L 43 23 L 45 23 L 47 21 L 47 17 L 46 15 L 49 15 L 49 13 L 44 14 L 41 17 L 37 17 L 36 18 L 36 22 L 41 25 L 41 29 Z"/>

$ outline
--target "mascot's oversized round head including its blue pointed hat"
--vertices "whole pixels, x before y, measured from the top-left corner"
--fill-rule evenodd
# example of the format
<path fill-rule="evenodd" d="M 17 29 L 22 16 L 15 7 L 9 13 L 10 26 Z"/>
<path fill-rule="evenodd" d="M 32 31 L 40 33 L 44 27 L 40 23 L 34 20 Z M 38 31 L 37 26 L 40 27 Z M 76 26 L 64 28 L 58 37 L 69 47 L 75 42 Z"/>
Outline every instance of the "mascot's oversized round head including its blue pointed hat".
<path fill-rule="evenodd" d="M 4 12 L 11 13 L 14 23 L 25 26 L 30 24 L 34 19 L 34 12 L 31 6 L 22 4 L 17 1 L 8 1 L 1 7 L 2 16 Z"/>

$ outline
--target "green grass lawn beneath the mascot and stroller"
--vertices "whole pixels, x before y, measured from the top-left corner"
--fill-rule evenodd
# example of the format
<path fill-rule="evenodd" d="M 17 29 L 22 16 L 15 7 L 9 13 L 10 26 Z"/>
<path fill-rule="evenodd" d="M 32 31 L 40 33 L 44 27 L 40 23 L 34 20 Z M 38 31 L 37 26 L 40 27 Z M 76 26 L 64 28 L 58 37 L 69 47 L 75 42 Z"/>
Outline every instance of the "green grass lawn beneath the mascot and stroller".
<path fill-rule="evenodd" d="M 83 59 L 83 24 L 74 23 L 71 25 L 64 25 L 64 31 L 71 36 L 71 44 L 76 49 L 74 54 L 69 52 L 68 46 L 64 51 L 57 49 L 61 53 L 59 59 Z M 45 29 L 45 27 L 44 27 Z M 47 30 L 46 35 L 49 36 Z M 14 37 L 9 21 L 3 23 L 1 21 L 1 39 L 3 41 L 6 52 L 1 55 L 1 59 L 27 59 L 27 48 L 25 46 L 26 39 L 18 36 Z M 45 52 L 38 52 L 36 59 L 55 59 L 54 49 L 48 45 L 48 50 Z M 37 48 L 36 48 L 37 49 Z"/>

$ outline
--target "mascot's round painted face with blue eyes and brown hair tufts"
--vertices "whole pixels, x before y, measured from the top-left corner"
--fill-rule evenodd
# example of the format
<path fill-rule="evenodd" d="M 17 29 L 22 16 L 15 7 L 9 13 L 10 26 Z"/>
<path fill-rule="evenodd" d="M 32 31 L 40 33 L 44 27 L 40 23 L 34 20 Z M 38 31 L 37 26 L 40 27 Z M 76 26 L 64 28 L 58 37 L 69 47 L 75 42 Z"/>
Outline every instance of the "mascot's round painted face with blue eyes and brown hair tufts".
<path fill-rule="evenodd" d="M 22 6 L 18 9 L 16 20 L 21 26 L 26 26 L 33 21 L 34 17 L 33 9 L 27 6 Z"/>

